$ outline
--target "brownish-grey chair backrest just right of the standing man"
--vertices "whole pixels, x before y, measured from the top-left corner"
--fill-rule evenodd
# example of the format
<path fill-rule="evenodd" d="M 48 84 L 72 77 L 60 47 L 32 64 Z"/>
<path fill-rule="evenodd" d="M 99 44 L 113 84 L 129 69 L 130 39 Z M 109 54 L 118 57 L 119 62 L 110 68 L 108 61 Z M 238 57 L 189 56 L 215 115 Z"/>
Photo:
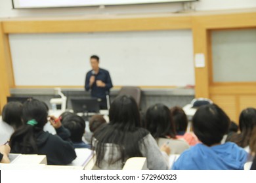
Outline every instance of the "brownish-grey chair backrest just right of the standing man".
<path fill-rule="evenodd" d="M 138 107 L 140 108 L 141 90 L 140 90 L 139 87 L 137 87 L 137 86 L 123 86 L 120 89 L 117 96 L 119 96 L 119 95 L 131 95 L 135 99 Z"/>

